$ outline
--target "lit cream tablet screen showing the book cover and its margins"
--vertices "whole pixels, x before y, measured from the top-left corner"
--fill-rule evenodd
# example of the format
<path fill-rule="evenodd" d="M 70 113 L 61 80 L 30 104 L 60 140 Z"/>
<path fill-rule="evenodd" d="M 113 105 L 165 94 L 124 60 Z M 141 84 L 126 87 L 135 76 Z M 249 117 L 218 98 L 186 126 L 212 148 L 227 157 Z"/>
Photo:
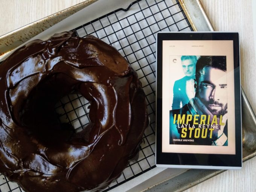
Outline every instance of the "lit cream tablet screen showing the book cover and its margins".
<path fill-rule="evenodd" d="M 182 43 L 163 42 L 162 152 L 235 154 L 233 44 Z"/>

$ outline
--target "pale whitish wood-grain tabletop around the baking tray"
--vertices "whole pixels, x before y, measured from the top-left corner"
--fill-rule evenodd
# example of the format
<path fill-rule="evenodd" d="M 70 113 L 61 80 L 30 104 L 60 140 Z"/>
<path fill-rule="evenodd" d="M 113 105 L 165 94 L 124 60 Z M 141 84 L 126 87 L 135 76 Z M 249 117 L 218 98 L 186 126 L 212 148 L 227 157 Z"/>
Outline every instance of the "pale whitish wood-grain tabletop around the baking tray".
<path fill-rule="evenodd" d="M 253 36 L 254 0 L 201 0 L 215 30 L 238 31 L 241 42 L 241 83 L 256 111 L 255 46 Z M 83 0 L 0 0 L 0 36 L 76 5 Z M 253 38 L 254 37 L 254 38 Z M 256 191 L 256 157 L 243 163 L 242 170 L 226 171 L 186 192 Z"/>

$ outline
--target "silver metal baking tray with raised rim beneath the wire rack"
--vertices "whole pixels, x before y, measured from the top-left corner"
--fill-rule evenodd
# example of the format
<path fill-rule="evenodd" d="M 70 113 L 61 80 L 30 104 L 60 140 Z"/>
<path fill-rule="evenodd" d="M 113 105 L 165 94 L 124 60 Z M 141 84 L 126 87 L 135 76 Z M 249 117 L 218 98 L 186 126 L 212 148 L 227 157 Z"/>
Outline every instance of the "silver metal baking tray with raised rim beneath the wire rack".
<path fill-rule="evenodd" d="M 175 25 L 178 27 L 180 21 L 175 21 L 175 18 L 178 20 L 178 17 L 176 17 L 177 15 L 181 15 L 182 17 L 184 17 L 184 19 L 182 19 L 183 20 L 182 22 L 184 22 L 184 23 L 187 22 L 189 24 L 188 26 L 185 26 L 183 28 L 184 30 L 194 30 L 194 31 L 213 31 L 214 30 L 212 27 L 212 24 L 209 21 L 209 18 L 207 17 L 207 15 L 203 9 L 203 6 L 201 5 L 199 0 L 165 0 L 165 1 L 163 1 L 163 0 L 144 0 L 144 1 L 147 4 L 146 6 L 148 6 L 149 8 L 153 8 L 153 4 L 154 4 L 154 6 L 156 6 L 160 10 L 160 8 L 159 8 L 160 3 L 165 3 L 166 6 L 167 6 L 167 4 L 169 5 L 172 3 L 173 5 L 172 4 L 169 5 L 170 9 L 174 9 L 175 7 L 177 7 L 177 9 L 181 10 L 175 14 L 172 14 L 172 19 L 174 20 L 174 24 L 171 24 L 170 26 L 168 26 L 168 28 L 166 28 L 167 30 L 172 29 L 172 27 L 175 27 Z M 104 23 L 102 24 L 102 22 L 104 20 L 99 19 L 99 17 L 101 17 L 102 15 L 105 15 L 105 17 L 108 18 L 108 20 L 110 21 L 112 18 L 111 18 L 111 14 L 108 14 L 108 13 L 110 13 L 114 10 L 117 10 L 119 8 L 123 8 L 122 9 L 123 12 L 122 12 L 122 14 L 119 14 L 119 12 L 117 12 L 117 11 L 113 12 L 112 14 L 114 14 L 115 17 L 117 17 L 117 16 L 118 17 L 126 17 L 127 16 L 126 14 L 128 14 L 127 12 L 134 12 L 135 11 L 134 6 L 130 6 L 131 2 L 133 2 L 133 0 L 128 0 L 125 2 L 121 1 L 121 0 L 109 0 L 108 6 L 104 11 L 96 14 L 95 12 L 90 10 L 93 14 L 90 14 L 90 11 L 88 11 L 89 17 L 87 18 L 87 20 L 83 19 L 82 23 L 79 23 L 80 22 L 79 19 L 75 20 L 76 22 L 73 22 L 73 16 L 75 16 L 76 14 L 79 14 L 79 12 L 77 12 L 77 11 L 85 8 L 86 6 L 88 6 L 90 4 L 92 4 L 92 6 L 93 5 L 96 6 L 97 3 L 104 3 L 103 0 L 85 0 L 85 2 L 80 3 L 76 6 L 73 6 L 66 10 L 63 10 L 56 14 L 50 15 L 49 17 L 43 18 L 34 23 L 28 24 L 28 25 L 21 27 L 20 29 L 17 29 L 13 32 L 9 32 L 8 34 L 5 34 L 2 37 L 0 37 L 0 59 L 3 60 L 5 58 L 5 56 L 8 55 L 9 52 L 12 52 L 12 50 L 17 48 L 21 44 L 25 43 L 26 41 L 30 40 L 31 38 L 33 39 L 35 35 L 39 34 L 40 32 L 42 32 L 44 30 L 45 31 L 41 34 L 44 34 L 46 36 L 52 35 L 54 32 L 60 32 L 61 27 L 55 27 L 55 28 L 51 27 L 60 21 L 61 22 L 58 23 L 59 26 L 63 25 L 63 23 L 65 23 L 65 22 L 67 23 L 68 20 L 71 20 L 72 24 L 75 23 L 74 27 L 70 26 L 70 29 L 76 28 L 76 32 L 78 33 L 79 36 L 84 36 L 86 34 L 89 34 L 89 32 L 86 32 L 86 30 L 85 30 L 85 28 L 88 25 L 93 26 L 93 28 L 96 26 L 95 23 L 97 23 L 97 22 L 100 23 L 102 26 L 104 25 Z M 158 2 L 159 2 L 159 4 L 158 4 Z M 139 4 L 139 1 L 136 3 Z M 131 8 L 131 9 L 126 10 L 126 8 Z M 140 9 L 144 13 L 144 11 L 147 10 L 148 8 L 142 9 L 140 7 Z M 83 10 L 81 10 L 81 11 L 83 11 Z M 150 11 L 155 17 L 157 17 L 155 15 L 156 13 L 154 12 L 154 10 L 153 10 L 153 12 L 152 12 L 152 10 L 150 10 Z M 74 14 L 75 12 L 77 12 L 77 13 Z M 133 14 L 136 15 L 137 12 L 135 12 Z M 149 14 L 150 14 L 150 12 L 149 12 Z M 162 11 L 162 17 L 163 17 L 163 14 L 164 14 L 164 11 Z M 72 15 L 72 16 L 67 18 L 69 15 Z M 109 16 L 106 16 L 106 15 L 109 15 Z M 145 15 L 143 15 L 143 16 L 148 17 Z M 156 21 L 155 17 L 154 17 L 154 20 Z M 65 19 L 65 18 L 67 18 L 67 19 Z M 63 19 L 65 19 L 65 20 L 63 20 Z M 118 19 L 119 24 L 122 21 L 124 21 L 123 18 Z M 127 21 L 129 21 L 129 20 L 127 20 Z M 160 20 L 159 23 L 161 21 L 162 20 Z M 148 22 L 150 22 L 150 20 L 148 20 Z M 84 24 L 84 23 L 86 23 L 86 24 Z M 117 21 L 116 21 L 116 23 L 117 23 Z M 55 26 L 58 26 L 58 24 L 56 24 Z M 114 24 L 115 24 L 115 22 L 112 24 L 110 22 L 110 25 L 107 25 L 107 27 L 112 27 L 112 29 L 113 29 Z M 150 24 L 150 23 L 148 23 L 148 24 Z M 166 22 L 166 24 L 167 24 L 167 22 Z M 158 25 L 158 23 L 157 23 L 157 25 Z M 183 24 L 181 24 L 181 26 L 182 25 Z M 78 26 L 80 26 L 80 27 L 78 27 Z M 51 27 L 51 28 L 46 30 L 49 27 Z M 106 33 L 107 27 L 101 28 L 104 33 Z M 141 31 L 143 32 L 142 28 L 141 28 Z M 123 32 L 125 33 L 125 29 L 123 30 Z M 93 33 L 93 32 L 91 32 L 91 33 Z M 101 33 L 96 32 L 93 35 L 101 36 Z M 37 36 L 37 37 L 40 38 L 40 36 Z M 104 36 L 102 36 L 102 37 L 104 37 Z M 127 36 L 125 38 L 128 40 Z M 110 41 L 110 38 L 105 38 L 105 39 L 107 41 Z M 123 39 L 123 38 L 121 38 L 121 39 Z M 152 37 L 152 39 L 154 40 L 154 37 Z M 147 38 L 147 40 L 150 41 L 149 38 Z M 120 44 L 119 40 L 114 43 Z M 114 43 L 113 43 L 113 45 L 114 45 Z M 134 42 L 134 43 L 136 43 L 136 42 Z M 134 45 L 134 43 L 133 43 L 133 45 Z M 117 44 L 117 46 L 119 46 L 119 45 Z M 154 47 L 154 44 L 151 44 L 151 46 Z M 136 47 L 134 47 L 134 46 L 130 45 L 130 47 L 136 49 Z M 121 47 L 119 50 L 122 52 L 122 51 L 125 51 L 126 48 L 127 48 L 127 46 Z M 140 47 L 140 49 L 142 49 L 142 48 L 143 47 Z M 152 51 L 152 49 L 151 49 L 151 51 Z M 154 56 L 153 51 L 152 51 L 151 55 Z M 124 55 L 124 56 L 128 60 L 130 59 L 129 54 Z M 135 56 L 136 56 L 136 54 L 135 54 Z M 152 73 L 151 74 L 150 71 L 147 72 L 145 70 L 145 69 L 149 69 L 149 68 L 151 68 L 151 70 L 152 70 L 151 64 L 149 66 L 145 66 L 144 68 L 140 66 L 140 68 L 137 69 L 137 73 L 139 73 L 139 76 L 141 76 L 141 81 L 143 81 L 143 79 L 145 80 L 145 77 L 147 75 L 154 74 L 154 72 L 151 72 Z M 135 64 L 132 64 L 132 66 L 137 67 Z M 143 70 L 141 70 L 141 68 L 143 68 Z M 153 76 L 153 78 L 154 78 L 154 76 Z M 147 82 L 147 83 L 150 85 L 149 82 Z M 154 92 L 154 82 L 151 83 L 150 87 L 151 87 L 151 91 Z M 243 142 L 243 151 L 242 152 L 243 152 L 243 161 L 246 161 L 256 155 L 256 152 L 255 152 L 255 149 L 256 149 L 256 143 L 255 143 L 256 117 L 255 117 L 255 114 L 254 114 L 254 112 L 251 108 L 251 105 L 248 102 L 248 99 L 243 90 L 242 90 L 241 94 L 242 94 L 242 142 Z M 149 97 L 151 97 L 149 99 L 152 99 L 152 95 Z M 67 103 L 70 103 L 70 105 L 72 105 L 73 108 L 76 105 L 75 101 L 79 101 L 79 103 L 81 103 L 81 105 L 83 106 L 82 108 L 86 108 L 88 105 L 88 102 L 83 101 L 79 95 L 75 95 L 75 96 L 73 95 L 73 96 L 63 99 L 59 106 L 62 106 L 63 103 L 66 104 L 66 101 L 67 101 Z M 153 105 L 154 105 L 154 102 L 148 101 L 148 103 L 149 103 L 149 106 L 151 107 L 151 110 L 154 109 L 154 106 L 153 107 L 151 106 L 151 103 L 153 103 Z M 58 110 L 59 111 L 67 110 L 67 108 L 62 109 L 61 107 L 60 108 L 57 107 L 57 111 Z M 67 111 L 64 111 L 64 112 L 67 112 Z M 87 112 L 88 111 L 86 111 L 86 109 L 85 109 L 84 113 L 87 113 Z M 61 113 L 61 112 L 59 112 L 59 113 Z M 69 116 L 67 116 L 67 118 L 69 119 Z M 154 122 L 153 119 L 154 119 L 154 116 L 151 117 L 151 123 L 152 123 L 152 121 Z M 244 122 L 246 122 L 246 123 L 244 123 Z M 73 123 L 73 122 L 71 122 L 71 123 Z M 152 126 L 154 126 L 154 124 L 151 124 L 151 130 L 148 129 L 148 130 L 146 130 L 146 132 L 150 132 L 150 131 L 152 132 L 152 130 L 153 130 Z M 203 182 L 221 172 L 224 172 L 224 170 L 204 170 L 204 169 L 186 170 L 186 169 L 158 169 L 158 168 L 155 168 L 155 165 L 152 164 L 152 162 L 151 162 L 152 157 L 154 157 L 154 154 L 153 154 L 154 153 L 154 149 L 153 149 L 154 143 L 152 143 L 152 139 L 154 140 L 154 134 L 152 134 L 151 132 L 150 132 L 150 134 L 145 135 L 145 137 L 144 137 L 144 140 L 146 140 L 146 143 L 149 143 L 149 145 L 145 146 L 145 143 L 142 144 L 142 148 L 143 148 L 143 146 L 145 146 L 146 149 L 147 148 L 151 149 L 151 150 L 149 150 L 150 155 L 148 155 L 148 156 L 145 155 L 146 151 L 142 150 L 142 154 L 140 154 L 140 155 L 142 155 L 142 157 L 145 157 L 145 158 L 140 158 L 139 163 L 137 163 L 137 164 L 134 163 L 132 165 L 129 165 L 130 167 L 127 168 L 129 170 L 131 169 L 131 171 L 134 172 L 136 170 L 135 170 L 135 168 L 133 170 L 132 167 L 138 165 L 138 167 L 140 167 L 140 169 L 142 170 L 142 173 L 138 173 L 138 174 L 133 173 L 133 175 L 132 175 L 134 177 L 133 180 L 126 179 L 125 178 L 126 173 L 122 174 L 121 177 L 117 180 L 117 183 L 111 184 L 110 188 L 108 188 L 107 190 L 120 191 L 120 189 L 121 190 L 124 189 L 123 187 L 125 187 L 125 184 L 127 186 L 127 185 L 131 184 L 131 182 L 132 182 L 132 183 L 137 183 L 137 184 L 136 184 L 136 186 L 128 189 L 128 191 L 130 191 L 130 192 L 132 192 L 132 191 L 183 191 L 183 190 L 186 190 L 192 186 L 195 186 L 196 184 L 201 183 L 201 182 Z M 144 164 L 143 164 L 144 160 L 146 162 L 144 164 L 146 164 L 146 165 L 148 164 L 149 168 L 142 169 L 144 166 Z M 146 179 L 145 179 L 145 177 L 143 178 L 143 175 L 145 175 L 145 173 L 147 175 L 150 175 Z M 11 190 L 16 191 L 16 189 L 18 191 L 21 191 L 21 189 L 17 186 L 17 184 L 7 181 L 7 179 L 3 175 L 1 175 L 0 177 L 1 178 L 3 177 L 3 179 L 5 180 L 5 181 L 0 180 L 0 191 L 2 191 L 2 192 L 7 192 L 7 191 L 11 191 Z M 127 180 L 127 182 L 126 182 L 126 180 Z M 135 182 L 135 180 L 136 180 L 136 182 Z M 140 181 L 138 181 L 138 180 L 140 180 Z M 3 187 L 3 186 L 5 186 L 5 187 Z"/>

